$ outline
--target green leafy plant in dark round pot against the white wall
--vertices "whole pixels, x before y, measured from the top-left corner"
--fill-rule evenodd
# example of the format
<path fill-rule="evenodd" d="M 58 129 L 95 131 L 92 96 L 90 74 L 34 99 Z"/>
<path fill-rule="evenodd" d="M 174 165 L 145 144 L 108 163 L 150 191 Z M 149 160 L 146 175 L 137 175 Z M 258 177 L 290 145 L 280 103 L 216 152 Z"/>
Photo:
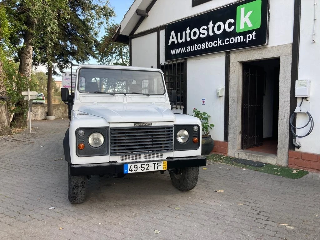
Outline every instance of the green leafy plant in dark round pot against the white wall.
<path fill-rule="evenodd" d="M 214 145 L 214 141 L 211 138 L 211 135 L 209 135 L 210 133 L 209 128 L 212 129 L 212 127 L 214 127 L 214 124 L 209 124 L 208 120 L 211 116 L 206 112 L 200 112 L 196 108 L 193 108 L 192 112 L 193 112 L 192 116 L 199 118 L 202 125 L 203 134 L 202 134 L 202 141 L 201 141 L 201 145 L 202 145 L 201 155 L 208 155 L 212 151 L 212 148 Z"/>

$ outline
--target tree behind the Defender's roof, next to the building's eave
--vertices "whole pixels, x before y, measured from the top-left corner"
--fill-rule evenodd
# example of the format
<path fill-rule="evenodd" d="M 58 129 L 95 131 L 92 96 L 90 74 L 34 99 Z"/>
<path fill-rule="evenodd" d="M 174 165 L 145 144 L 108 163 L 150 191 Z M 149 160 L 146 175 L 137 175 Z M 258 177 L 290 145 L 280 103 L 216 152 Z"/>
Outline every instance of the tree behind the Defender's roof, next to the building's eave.
<path fill-rule="evenodd" d="M 117 25 L 112 23 L 106 29 L 106 35 L 100 41 L 98 47 L 98 61 L 107 65 L 129 65 L 129 45 L 117 43 L 112 40 L 116 33 Z"/>

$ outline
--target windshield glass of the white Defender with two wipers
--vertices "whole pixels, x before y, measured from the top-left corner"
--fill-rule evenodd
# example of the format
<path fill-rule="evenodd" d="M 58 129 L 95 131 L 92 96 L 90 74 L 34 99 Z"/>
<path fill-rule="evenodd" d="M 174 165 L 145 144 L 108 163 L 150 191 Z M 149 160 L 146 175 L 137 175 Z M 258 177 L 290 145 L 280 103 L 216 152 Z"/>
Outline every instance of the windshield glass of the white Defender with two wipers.
<path fill-rule="evenodd" d="M 81 68 L 77 87 L 85 93 L 165 93 L 162 74 L 155 71 Z"/>

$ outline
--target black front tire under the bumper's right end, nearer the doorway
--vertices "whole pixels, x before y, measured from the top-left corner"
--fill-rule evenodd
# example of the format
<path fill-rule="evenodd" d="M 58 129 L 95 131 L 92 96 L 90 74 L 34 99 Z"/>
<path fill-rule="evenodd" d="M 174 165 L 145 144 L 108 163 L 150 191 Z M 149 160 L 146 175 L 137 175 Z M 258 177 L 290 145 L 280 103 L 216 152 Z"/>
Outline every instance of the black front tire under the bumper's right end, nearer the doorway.
<path fill-rule="evenodd" d="M 189 191 L 196 187 L 199 176 L 199 167 L 184 167 L 170 171 L 170 178 L 175 188 L 180 191 Z"/>

